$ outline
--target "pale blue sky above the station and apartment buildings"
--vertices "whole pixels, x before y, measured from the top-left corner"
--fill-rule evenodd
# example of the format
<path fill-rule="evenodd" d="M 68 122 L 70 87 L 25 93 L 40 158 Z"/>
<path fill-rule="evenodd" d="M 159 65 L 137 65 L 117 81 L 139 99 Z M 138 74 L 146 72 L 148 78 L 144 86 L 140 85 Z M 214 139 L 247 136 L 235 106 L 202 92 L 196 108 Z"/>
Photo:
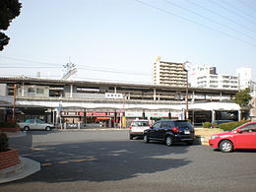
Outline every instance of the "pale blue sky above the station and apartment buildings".
<path fill-rule="evenodd" d="M 256 81 L 255 0 L 20 0 L 7 31 L 0 76 L 152 83 L 157 57 L 217 67 Z"/>

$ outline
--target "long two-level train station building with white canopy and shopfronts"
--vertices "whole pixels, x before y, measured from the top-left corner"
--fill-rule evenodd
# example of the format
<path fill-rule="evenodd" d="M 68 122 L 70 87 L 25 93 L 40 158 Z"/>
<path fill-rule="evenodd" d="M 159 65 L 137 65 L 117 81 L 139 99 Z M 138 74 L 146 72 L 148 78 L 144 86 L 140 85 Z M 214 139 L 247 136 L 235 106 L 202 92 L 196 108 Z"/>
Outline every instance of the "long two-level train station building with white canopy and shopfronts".
<path fill-rule="evenodd" d="M 38 118 L 68 127 L 101 123 L 117 127 L 125 116 L 126 127 L 136 118 L 189 119 L 197 126 L 214 120 L 240 120 L 248 110 L 234 103 L 236 90 L 188 88 L 28 77 L 0 77 L 0 121 Z M 187 96 L 188 95 L 188 96 Z M 186 96 L 188 100 L 186 100 Z M 15 113 L 13 112 L 15 111 Z M 15 114 L 15 115 L 13 115 Z"/>

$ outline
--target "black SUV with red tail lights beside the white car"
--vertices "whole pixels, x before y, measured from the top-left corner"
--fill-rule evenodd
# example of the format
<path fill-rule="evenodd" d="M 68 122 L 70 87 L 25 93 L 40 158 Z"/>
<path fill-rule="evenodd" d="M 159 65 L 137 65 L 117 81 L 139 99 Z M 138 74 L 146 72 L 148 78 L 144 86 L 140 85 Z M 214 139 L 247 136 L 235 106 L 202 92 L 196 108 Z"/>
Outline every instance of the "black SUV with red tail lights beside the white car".
<path fill-rule="evenodd" d="M 194 127 L 187 120 L 160 120 L 144 131 L 144 142 L 151 140 L 165 142 L 172 146 L 175 142 L 192 145 L 195 139 Z"/>

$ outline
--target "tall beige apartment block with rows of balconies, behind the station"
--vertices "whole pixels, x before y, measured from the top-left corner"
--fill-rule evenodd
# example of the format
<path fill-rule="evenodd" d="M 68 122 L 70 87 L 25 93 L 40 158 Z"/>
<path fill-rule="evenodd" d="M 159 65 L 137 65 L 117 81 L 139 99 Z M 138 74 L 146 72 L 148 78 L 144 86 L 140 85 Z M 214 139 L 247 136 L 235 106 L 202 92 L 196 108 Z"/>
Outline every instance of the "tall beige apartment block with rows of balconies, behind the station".
<path fill-rule="evenodd" d="M 158 57 L 153 64 L 152 79 L 154 85 L 185 87 L 187 75 L 182 68 L 182 63 L 160 61 L 160 57 Z"/>

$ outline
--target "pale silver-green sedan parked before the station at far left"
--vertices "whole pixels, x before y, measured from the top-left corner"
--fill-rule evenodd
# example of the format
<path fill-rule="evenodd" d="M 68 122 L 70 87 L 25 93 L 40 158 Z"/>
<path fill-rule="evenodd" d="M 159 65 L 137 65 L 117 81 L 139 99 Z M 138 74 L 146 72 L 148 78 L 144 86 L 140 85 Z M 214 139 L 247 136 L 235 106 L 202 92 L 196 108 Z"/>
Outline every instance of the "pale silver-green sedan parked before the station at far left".
<path fill-rule="evenodd" d="M 53 124 L 44 123 L 40 119 L 28 119 L 24 123 L 18 123 L 24 131 L 34 130 L 45 130 L 50 131 L 54 128 Z"/>

